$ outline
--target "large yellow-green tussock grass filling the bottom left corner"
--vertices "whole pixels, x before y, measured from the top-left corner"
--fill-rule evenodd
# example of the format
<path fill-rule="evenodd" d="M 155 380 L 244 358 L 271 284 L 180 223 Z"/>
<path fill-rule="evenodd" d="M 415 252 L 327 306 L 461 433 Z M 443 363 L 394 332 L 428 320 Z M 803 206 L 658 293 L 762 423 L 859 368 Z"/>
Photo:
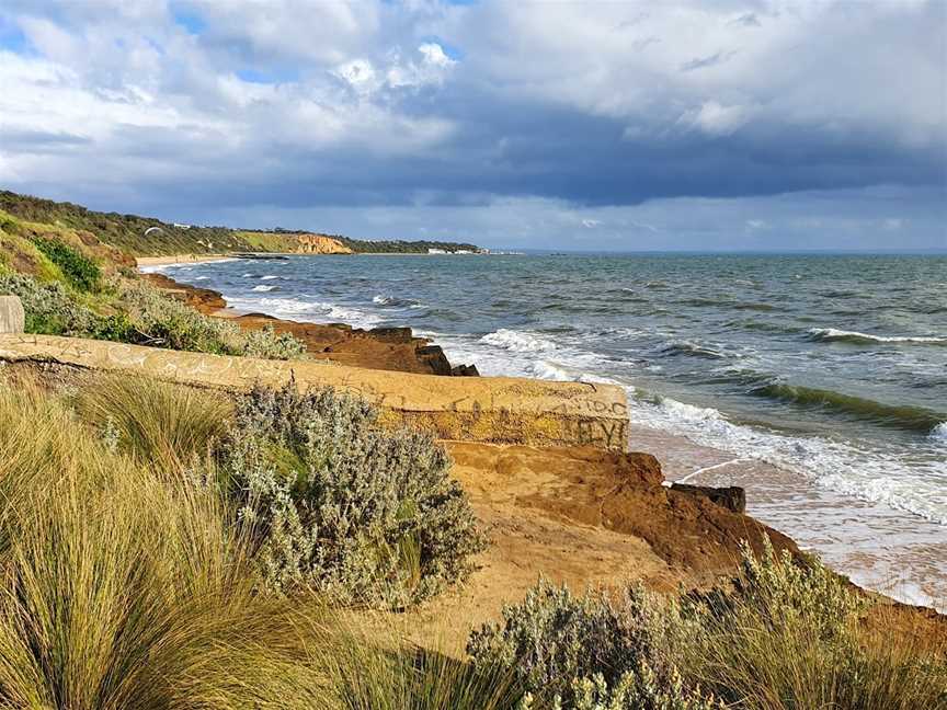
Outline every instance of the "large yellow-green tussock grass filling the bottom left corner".
<path fill-rule="evenodd" d="M 36 391 L 0 388 L 0 707 L 319 707 L 322 611 L 255 593 L 213 490 L 111 453 Z"/>

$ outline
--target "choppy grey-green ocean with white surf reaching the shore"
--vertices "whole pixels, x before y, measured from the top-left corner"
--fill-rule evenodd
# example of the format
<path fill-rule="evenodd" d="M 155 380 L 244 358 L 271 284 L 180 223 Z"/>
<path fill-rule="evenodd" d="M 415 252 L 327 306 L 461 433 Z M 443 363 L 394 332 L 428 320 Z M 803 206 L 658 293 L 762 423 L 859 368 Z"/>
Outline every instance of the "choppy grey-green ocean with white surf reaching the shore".
<path fill-rule="evenodd" d="M 616 382 L 631 449 L 864 586 L 947 607 L 947 256 L 293 256 L 160 268 L 243 311 L 408 325 L 482 375 Z"/>

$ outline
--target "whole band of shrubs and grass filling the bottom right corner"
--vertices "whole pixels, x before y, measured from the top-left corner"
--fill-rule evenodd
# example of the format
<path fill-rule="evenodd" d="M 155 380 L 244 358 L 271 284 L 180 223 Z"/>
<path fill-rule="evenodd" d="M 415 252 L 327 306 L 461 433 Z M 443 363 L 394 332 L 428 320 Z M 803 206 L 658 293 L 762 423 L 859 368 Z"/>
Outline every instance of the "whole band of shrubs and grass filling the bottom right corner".
<path fill-rule="evenodd" d="M 875 607 L 872 614 L 879 614 Z M 818 560 L 757 558 L 680 605 L 631 592 L 573 597 L 540 583 L 470 637 L 475 665 L 510 667 L 523 708 L 749 710 L 947 707 L 947 649 L 937 632 L 880 616 Z M 897 634 L 897 635 L 895 635 Z M 703 689 L 703 690 L 701 690 Z"/>

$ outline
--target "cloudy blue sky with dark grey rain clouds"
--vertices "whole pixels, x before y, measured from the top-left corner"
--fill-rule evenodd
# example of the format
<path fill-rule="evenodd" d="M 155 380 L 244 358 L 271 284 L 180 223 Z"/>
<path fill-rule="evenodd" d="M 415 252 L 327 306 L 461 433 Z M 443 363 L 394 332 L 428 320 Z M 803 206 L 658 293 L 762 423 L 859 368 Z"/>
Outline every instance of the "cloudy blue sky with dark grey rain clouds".
<path fill-rule="evenodd" d="M 3 0 L 0 187 L 494 249 L 947 249 L 947 0 Z"/>

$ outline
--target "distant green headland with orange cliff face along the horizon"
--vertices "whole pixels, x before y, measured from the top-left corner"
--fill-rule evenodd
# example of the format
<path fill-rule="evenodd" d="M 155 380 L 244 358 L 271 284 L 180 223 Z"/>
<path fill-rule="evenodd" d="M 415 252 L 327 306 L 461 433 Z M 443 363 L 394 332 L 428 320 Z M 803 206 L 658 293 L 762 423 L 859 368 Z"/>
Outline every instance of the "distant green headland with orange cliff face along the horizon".
<path fill-rule="evenodd" d="M 256 251 L 283 253 L 426 253 L 429 249 L 479 251 L 474 244 L 455 242 L 366 241 L 334 234 L 278 229 L 265 231 L 174 225 L 153 217 L 94 211 L 72 203 L 57 203 L 10 191 L 0 191 L 0 210 L 26 222 L 42 222 L 91 232 L 100 241 L 135 256 Z"/>

